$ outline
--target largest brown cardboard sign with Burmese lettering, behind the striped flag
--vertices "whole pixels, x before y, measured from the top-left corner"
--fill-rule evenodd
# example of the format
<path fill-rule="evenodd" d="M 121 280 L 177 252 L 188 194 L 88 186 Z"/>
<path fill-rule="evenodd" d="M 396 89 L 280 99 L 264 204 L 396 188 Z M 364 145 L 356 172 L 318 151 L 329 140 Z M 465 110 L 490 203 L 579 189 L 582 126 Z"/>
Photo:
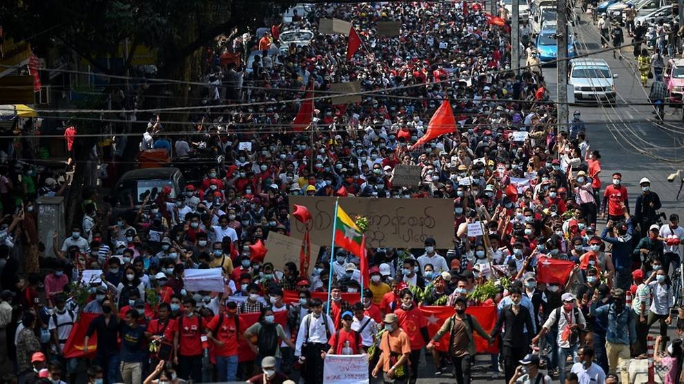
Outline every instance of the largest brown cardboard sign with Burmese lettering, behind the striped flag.
<path fill-rule="evenodd" d="M 309 208 L 313 223 L 311 239 L 319 244 L 330 244 L 333 232 L 334 197 L 289 196 L 290 212 L 293 205 Z M 340 198 L 340 207 L 354 219 L 365 216 L 369 221 L 364 233 L 367 246 L 422 248 L 425 239 L 432 237 L 437 248 L 453 245 L 453 201 L 449 199 L 368 199 Z M 291 215 L 291 236 L 304 237 L 304 224 Z"/>

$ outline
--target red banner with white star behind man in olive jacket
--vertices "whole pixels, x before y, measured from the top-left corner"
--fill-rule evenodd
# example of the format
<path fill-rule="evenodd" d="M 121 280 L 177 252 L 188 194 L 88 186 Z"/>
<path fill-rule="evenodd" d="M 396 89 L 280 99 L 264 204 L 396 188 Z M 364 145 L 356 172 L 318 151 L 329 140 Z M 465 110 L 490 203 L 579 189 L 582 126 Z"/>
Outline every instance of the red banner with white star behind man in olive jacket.
<path fill-rule="evenodd" d="M 420 307 L 420 310 L 423 312 L 423 316 L 425 316 L 425 319 L 427 320 L 427 332 L 430 334 L 430 337 L 434 336 L 437 333 L 437 331 L 440 330 L 440 327 L 442 327 L 444 321 L 447 321 L 447 319 L 449 319 L 449 317 L 455 313 L 453 307 L 446 306 Z M 482 329 L 485 330 L 485 332 L 490 333 L 491 330 L 494 329 L 494 325 L 496 325 L 496 307 L 468 307 L 465 312 L 470 316 L 473 316 L 475 319 L 477 319 L 478 323 L 482 325 Z M 448 332 L 447 334 L 444 334 L 444 336 L 442 336 L 442 339 L 436 346 L 438 351 L 449 351 L 450 335 L 451 332 Z M 474 331 L 473 337 L 475 338 L 475 347 L 478 350 L 478 353 L 498 353 L 498 341 L 495 341 L 494 344 L 489 345 L 489 343 L 487 343 L 487 340 L 480 337 L 480 335 Z"/>

